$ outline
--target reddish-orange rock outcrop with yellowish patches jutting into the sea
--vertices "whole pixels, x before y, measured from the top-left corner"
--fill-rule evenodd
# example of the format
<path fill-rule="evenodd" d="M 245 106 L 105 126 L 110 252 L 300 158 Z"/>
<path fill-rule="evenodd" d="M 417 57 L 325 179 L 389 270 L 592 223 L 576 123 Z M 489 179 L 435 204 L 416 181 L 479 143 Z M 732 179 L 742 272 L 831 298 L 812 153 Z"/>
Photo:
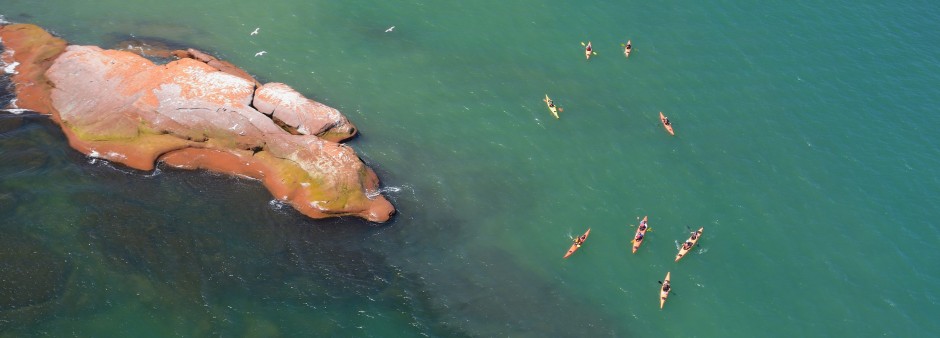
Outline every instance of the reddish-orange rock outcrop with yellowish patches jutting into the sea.
<path fill-rule="evenodd" d="M 33 25 L 0 28 L 17 65 L 19 108 L 51 114 L 69 144 L 92 157 L 152 170 L 157 161 L 261 180 L 314 218 L 384 222 L 394 208 L 352 148 L 339 111 L 281 83 L 194 49 L 158 65 L 95 46 L 67 45 Z"/>

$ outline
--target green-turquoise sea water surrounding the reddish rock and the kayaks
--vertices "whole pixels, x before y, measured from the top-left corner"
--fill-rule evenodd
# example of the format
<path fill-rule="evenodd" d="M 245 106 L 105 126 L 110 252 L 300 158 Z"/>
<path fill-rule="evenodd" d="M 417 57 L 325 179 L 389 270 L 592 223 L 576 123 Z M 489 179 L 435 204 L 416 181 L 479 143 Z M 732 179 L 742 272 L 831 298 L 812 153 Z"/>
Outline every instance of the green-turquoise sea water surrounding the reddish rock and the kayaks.
<path fill-rule="evenodd" d="M 0 14 L 76 44 L 193 46 L 287 83 L 359 127 L 350 145 L 399 209 L 384 225 L 308 220 L 258 182 L 92 161 L 43 118 L 0 115 L 0 335 L 940 332 L 930 2 L 12 0 Z"/>

